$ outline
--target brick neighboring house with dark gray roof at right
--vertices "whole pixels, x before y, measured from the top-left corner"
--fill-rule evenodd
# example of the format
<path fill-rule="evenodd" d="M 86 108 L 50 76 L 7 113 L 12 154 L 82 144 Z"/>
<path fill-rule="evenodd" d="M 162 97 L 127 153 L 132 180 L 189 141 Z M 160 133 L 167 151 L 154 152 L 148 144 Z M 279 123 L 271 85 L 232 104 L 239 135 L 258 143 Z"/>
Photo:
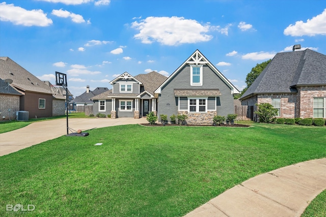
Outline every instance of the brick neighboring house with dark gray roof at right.
<path fill-rule="evenodd" d="M 254 111 L 256 103 L 270 103 L 278 117 L 326 118 L 326 55 L 310 49 L 277 53 L 240 100 Z"/>

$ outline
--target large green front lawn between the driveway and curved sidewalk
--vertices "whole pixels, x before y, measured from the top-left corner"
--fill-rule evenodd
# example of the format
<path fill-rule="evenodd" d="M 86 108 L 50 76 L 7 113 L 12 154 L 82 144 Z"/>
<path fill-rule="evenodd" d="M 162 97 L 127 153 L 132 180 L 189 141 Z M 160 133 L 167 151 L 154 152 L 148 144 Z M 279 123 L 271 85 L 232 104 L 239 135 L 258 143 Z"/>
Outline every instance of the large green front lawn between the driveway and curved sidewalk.
<path fill-rule="evenodd" d="M 325 127 L 253 125 L 127 125 L 43 142 L 0 157 L 0 207 L 33 204 L 33 216 L 182 216 L 258 174 L 326 157 Z"/>

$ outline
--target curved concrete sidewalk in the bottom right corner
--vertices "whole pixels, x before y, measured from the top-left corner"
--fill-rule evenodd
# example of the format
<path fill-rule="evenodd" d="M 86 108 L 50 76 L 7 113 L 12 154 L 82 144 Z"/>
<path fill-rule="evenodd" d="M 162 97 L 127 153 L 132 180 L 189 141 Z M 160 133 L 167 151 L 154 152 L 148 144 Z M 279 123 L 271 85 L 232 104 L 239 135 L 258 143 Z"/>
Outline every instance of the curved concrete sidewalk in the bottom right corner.
<path fill-rule="evenodd" d="M 326 158 L 253 177 L 185 216 L 301 216 L 324 189 Z"/>

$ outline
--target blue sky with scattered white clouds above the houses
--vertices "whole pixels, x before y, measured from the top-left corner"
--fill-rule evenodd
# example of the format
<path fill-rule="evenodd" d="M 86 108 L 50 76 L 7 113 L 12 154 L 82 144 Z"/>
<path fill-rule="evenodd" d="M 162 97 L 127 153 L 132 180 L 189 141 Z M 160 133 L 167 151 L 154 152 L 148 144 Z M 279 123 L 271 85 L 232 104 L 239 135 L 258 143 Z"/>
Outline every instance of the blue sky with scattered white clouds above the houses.
<path fill-rule="evenodd" d="M 74 96 L 128 72 L 171 75 L 198 49 L 239 90 L 301 44 L 326 54 L 326 1 L 0 0 L 0 56 Z"/>

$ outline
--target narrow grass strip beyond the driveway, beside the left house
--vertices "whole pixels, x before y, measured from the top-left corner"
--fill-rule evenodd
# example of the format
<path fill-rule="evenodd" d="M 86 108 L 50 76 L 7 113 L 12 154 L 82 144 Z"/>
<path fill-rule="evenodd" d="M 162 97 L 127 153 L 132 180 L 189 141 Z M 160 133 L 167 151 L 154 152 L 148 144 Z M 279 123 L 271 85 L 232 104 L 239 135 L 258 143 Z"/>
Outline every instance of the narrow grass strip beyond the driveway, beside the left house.
<path fill-rule="evenodd" d="M 85 118 L 86 117 L 85 112 L 70 113 L 70 114 L 68 114 L 68 116 L 69 116 L 69 118 Z M 0 121 L 0 134 L 26 127 L 33 122 L 58 119 L 58 118 L 66 118 L 66 115 L 60 115 L 60 116 L 54 116 L 54 117 L 31 118 L 29 120 L 24 120 L 24 121 L 20 121 L 20 120 Z M 89 117 L 89 118 L 92 118 L 92 117 Z"/>

